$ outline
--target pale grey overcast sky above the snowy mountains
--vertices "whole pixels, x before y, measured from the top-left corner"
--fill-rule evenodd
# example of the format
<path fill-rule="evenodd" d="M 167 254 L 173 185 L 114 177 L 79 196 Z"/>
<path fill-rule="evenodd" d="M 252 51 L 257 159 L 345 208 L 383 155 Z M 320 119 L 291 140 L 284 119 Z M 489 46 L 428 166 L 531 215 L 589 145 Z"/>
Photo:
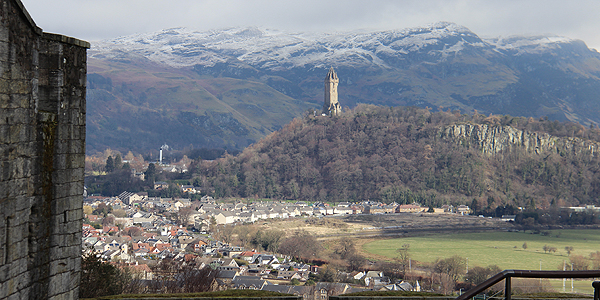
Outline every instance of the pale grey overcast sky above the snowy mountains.
<path fill-rule="evenodd" d="M 98 41 L 174 27 L 389 30 L 447 21 L 483 38 L 558 35 L 600 50 L 598 0 L 21 0 L 46 32 Z"/>

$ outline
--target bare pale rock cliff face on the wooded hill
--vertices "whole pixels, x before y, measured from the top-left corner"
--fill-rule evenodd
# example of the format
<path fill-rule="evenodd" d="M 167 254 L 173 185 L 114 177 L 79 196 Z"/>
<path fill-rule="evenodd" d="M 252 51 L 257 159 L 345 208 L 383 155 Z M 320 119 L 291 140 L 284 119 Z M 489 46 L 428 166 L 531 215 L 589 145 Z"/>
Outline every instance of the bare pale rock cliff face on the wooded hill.
<path fill-rule="evenodd" d="M 486 124 L 457 124 L 440 130 L 443 139 L 452 139 L 461 145 L 477 147 L 493 155 L 502 151 L 522 148 L 529 153 L 596 155 L 600 143 L 580 138 L 561 138 L 547 133 L 529 132 L 511 126 Z"/>

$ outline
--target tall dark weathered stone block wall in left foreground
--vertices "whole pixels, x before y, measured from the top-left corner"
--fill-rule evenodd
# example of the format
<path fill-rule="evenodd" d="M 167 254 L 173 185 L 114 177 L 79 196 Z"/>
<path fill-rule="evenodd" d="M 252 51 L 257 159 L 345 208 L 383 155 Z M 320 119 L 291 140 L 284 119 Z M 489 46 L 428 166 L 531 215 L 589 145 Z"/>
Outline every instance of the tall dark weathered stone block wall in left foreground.
<path fill-rule="evenodd" d="M 0 298 L 77 299 L 86 49 L 0 0 Z"/>

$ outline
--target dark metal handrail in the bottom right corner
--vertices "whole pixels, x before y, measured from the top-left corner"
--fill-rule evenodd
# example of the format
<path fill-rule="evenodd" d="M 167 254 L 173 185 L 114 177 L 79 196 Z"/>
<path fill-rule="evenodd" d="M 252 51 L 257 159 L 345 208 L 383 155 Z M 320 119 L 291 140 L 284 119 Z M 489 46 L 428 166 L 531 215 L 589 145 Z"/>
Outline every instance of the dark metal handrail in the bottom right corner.
<path fill-rule="evenodd" d="M 504 280 L 504 299 L 511 300 L 511 278 L 600 278 L 600 270 L 589 271 L 533 271 L 533 270 L 504 270 L 488 280 L 478 284 L 455 300 L 466 300 L 492 287 Z M 594 300 L 600 300 L 600 282 L 592 284 L 594 287 Z"/>

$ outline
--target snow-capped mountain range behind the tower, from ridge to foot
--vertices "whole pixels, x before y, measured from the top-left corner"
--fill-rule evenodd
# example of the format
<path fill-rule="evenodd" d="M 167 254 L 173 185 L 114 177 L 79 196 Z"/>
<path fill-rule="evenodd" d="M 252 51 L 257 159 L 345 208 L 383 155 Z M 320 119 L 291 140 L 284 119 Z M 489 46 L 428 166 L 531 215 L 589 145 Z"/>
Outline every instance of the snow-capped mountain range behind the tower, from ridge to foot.
<path fill-rule="evenodd" d="M 88 56 L 88 152 L 242 149 L 319 109 L 330 66 L 345 109 L 600 123 L 600 54 L 564 37 L 482 39 L 452 23 L 331 34 L 174 28 L 94 43 Z"/>

